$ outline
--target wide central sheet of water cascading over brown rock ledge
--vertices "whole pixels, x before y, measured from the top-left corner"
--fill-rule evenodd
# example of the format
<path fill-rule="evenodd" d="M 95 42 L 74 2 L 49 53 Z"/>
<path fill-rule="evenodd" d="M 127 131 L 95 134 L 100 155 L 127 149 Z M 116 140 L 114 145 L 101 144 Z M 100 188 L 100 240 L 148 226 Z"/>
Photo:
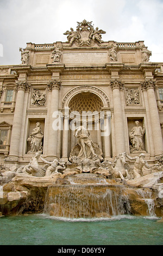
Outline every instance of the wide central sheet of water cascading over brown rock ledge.
<path fill-rule="evenodd" d="M 48 187 L 44 210 L 46 214 L 67 218 L 129 214 L 124 186 L 109 185 L 105 179 L 89 174 L 77 175 L 69 180 L 70 185 Z"/>

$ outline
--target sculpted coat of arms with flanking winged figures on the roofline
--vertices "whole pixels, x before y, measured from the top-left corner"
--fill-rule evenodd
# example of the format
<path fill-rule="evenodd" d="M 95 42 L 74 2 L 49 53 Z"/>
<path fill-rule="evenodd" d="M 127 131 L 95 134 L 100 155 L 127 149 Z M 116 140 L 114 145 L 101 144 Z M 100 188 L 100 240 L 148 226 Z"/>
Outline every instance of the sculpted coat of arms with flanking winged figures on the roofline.
<path fill-rule="evenodd" d="M 83 20 L 82 22 L 77 22 L 78 26 L 76 31 L 71 28 L 71 31 L 66 31 L 64 35 L 67 35 L 67 40 L 70 45 L 75 42 L 78 46 L 91 46 L 95 43 L 100 44 L 103 42 L 102 34 L 106 32 L 102 29 L 96 29 L 92 26 L 92 21 L 88 22 Z"/>

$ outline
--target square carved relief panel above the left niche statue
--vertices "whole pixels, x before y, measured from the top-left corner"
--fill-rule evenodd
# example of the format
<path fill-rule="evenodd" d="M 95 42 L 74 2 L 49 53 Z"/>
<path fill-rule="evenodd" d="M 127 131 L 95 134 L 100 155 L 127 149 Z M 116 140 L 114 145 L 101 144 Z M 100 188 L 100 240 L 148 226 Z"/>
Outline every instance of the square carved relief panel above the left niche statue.
<path fill-rule="evenodd" d="M 45 90 L 33 89 L 30 102 L 31 102 L 31 105 L 33 106 L 45 106 L 45 102 L 46 102 Z"/>

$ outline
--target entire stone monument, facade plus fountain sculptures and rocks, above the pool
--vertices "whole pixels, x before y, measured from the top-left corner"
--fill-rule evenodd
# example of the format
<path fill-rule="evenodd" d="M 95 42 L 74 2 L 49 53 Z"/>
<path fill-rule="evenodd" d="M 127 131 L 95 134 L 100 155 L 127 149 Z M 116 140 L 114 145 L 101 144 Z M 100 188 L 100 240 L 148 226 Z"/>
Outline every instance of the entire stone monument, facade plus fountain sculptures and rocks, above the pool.
<path fill-rule="evenodd" d="M 1 67 L 0 211 L 162 216 L 162 63 L 86 20 L 64 34 Z"/>

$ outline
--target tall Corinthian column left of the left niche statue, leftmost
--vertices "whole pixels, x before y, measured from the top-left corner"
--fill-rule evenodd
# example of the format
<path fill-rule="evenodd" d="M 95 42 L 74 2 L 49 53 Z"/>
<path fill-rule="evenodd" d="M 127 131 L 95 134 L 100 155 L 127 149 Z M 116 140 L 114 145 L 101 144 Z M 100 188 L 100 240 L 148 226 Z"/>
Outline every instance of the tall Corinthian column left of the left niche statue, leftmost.
<path fill-rule="evenodd" d="M 30 86 L 26 81 L 16 81 L 17 98 L 15 104 L 14 120 L 12 125 L 11 143 L 10 143 L 10 156 L 18 156 L 20 139 L 21 138 L 21 126 L 23 118 L 23 103 L 24 103 L 24 92 Z"/>

